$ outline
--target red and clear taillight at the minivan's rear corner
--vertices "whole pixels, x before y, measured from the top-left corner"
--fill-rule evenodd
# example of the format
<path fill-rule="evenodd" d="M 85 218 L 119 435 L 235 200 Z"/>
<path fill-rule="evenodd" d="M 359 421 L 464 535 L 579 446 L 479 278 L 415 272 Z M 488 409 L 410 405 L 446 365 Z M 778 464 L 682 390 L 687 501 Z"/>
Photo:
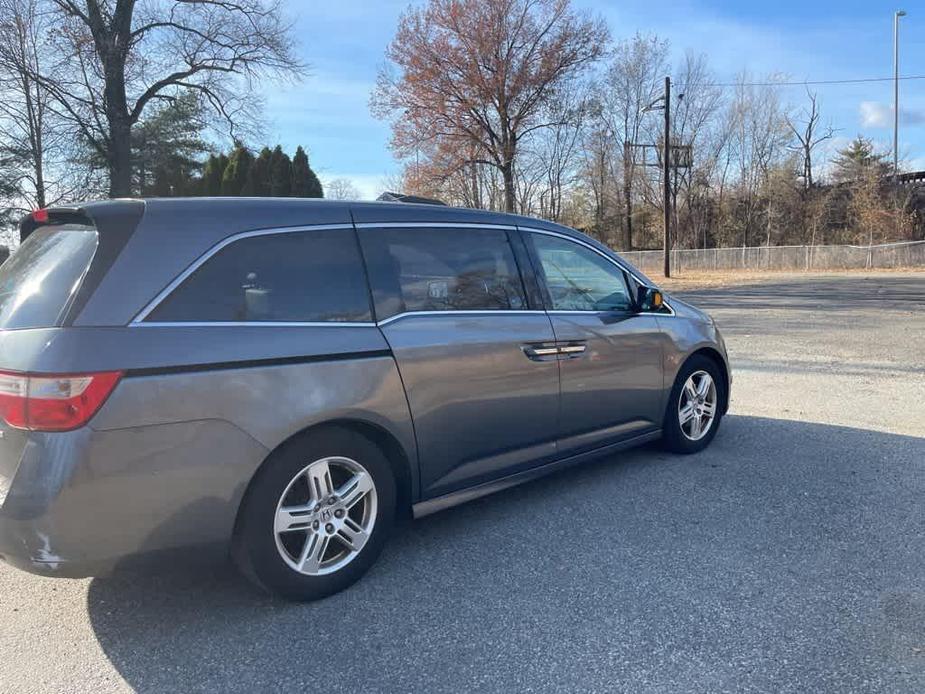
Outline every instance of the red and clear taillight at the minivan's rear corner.
<path fill-rule="evenodd" d="M 0 419 L 17 429 L 69 431 L 90 421 L 121 371 L 45 376 L 0 371 Z"/>

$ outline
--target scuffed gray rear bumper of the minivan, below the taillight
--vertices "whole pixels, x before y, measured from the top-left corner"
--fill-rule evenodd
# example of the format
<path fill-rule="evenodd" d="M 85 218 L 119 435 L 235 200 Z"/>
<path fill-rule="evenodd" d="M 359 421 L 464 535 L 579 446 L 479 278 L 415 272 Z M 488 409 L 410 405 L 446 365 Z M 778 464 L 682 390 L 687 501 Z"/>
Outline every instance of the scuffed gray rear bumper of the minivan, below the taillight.
<path fill-rule="evenodd" d="M 266 454 L 219 420 L 29 434 L 4 480 L 0 559 L 83 577 L 161 550 L 226 543 Z"/>

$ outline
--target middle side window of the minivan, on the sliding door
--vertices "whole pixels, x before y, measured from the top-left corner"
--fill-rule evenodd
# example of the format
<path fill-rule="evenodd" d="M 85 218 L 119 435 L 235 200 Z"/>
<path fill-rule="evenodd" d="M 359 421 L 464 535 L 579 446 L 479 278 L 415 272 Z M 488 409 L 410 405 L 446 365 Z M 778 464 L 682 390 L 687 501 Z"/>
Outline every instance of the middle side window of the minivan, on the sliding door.
<path fill-rule="evenodd" d="M 500 229 L 369 229 L 362 236 L 378 318 L 405 311 L 505 311 L 527 306 Z"/>

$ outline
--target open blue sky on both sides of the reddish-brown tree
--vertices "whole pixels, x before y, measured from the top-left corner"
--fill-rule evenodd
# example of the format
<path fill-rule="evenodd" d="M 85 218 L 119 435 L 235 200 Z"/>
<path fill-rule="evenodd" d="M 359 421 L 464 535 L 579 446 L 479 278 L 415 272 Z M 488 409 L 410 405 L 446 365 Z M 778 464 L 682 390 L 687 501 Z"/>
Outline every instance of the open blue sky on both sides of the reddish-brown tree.
<path fill-rule="evenodd" d="M 756 77 L 793 80 L 889 77 L 893 11 L 878 0 L 573 0 L 600 13 L 615 39 L 655 33 L 671 42 L 675 61 L 705 53 L 721 81 L 747 69 Z M 901 74 L 925 74 L 925 6 L 905 0 Z M 268 89 L 267 138 L 290 150 L 304 145 L 322 180 L 348 178 L 365 197 L 383 189 L 398 166 L 386 123 L 374 119 L 369 93 L 407 0 L 286 0 L 299 50 L 311 67 L 301 84 Z M 916 7 L 918 5 L 918 7 Z M 839 129 L 835 146 L 858 133 L 888 148 L 892 82 L 814 87 L 823 117 Z M 900 151 L 925 168 L 925 80 L 901 83 Z M 799 103 L 802 87 L 784 97 Z"/>

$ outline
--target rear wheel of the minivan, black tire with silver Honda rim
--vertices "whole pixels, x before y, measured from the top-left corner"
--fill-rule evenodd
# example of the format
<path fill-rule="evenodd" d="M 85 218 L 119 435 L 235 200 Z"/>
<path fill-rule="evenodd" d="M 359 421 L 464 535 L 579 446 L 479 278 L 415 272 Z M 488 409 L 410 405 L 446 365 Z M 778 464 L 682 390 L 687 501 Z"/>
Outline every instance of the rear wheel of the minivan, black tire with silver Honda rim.
<path fill-rule="evenodd" d="M 341 427 L 283 444 L 255 475 L 232 556 L 257 586 L 289 600 L 333 595 L 373 565 L 395 517 L 395 477 L 365 436 Z"/>

